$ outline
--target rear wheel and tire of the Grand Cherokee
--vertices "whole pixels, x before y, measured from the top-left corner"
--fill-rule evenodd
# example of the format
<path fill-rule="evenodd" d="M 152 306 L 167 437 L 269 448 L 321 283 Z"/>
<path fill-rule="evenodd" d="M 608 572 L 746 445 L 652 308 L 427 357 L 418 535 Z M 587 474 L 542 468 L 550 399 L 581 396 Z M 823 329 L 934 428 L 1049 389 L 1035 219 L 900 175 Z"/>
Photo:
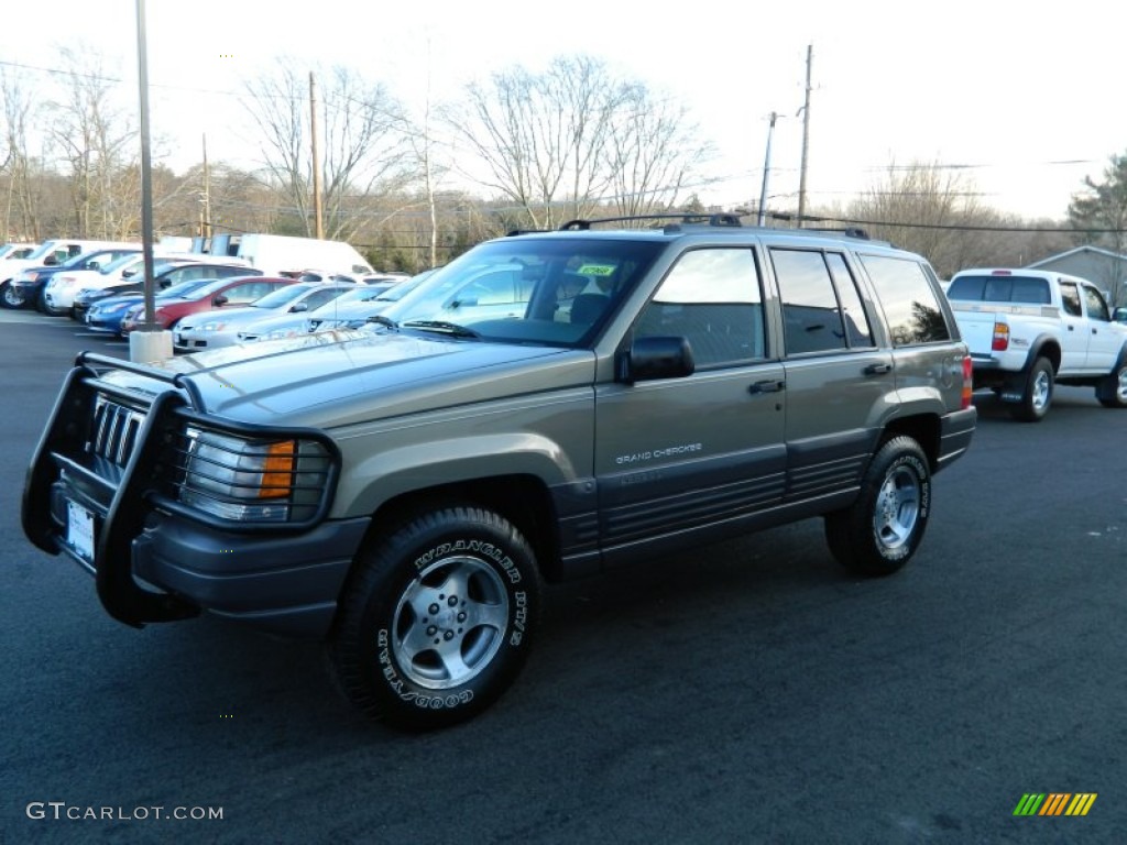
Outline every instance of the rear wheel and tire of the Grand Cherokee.
<path fill-rule="evenodd" d="M 930 510 L 928 456 L 911 437 L 894 437 L 873 456 L 853 506 L 826 515 L 826 542 L 846 569 L 891 575 L 919 548 Z"/>

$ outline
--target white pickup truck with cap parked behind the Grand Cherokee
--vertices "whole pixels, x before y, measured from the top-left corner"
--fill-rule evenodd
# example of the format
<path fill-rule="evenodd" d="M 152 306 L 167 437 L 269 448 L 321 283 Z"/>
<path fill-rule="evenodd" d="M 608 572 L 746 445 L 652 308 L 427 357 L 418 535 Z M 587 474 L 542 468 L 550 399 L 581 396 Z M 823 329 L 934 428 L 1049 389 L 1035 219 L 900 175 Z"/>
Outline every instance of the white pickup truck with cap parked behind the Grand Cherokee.
<path fill-rule="evenodd" d="M 1046 270 L 985 268 L 951 277 L 947 299 L 970 347 L 975 388 L 991 388 L 1018 419 L 1048 412 L 1056 384 L 1095 388 L 1127 408 L 1127 326 L 1091 282 Z"/>

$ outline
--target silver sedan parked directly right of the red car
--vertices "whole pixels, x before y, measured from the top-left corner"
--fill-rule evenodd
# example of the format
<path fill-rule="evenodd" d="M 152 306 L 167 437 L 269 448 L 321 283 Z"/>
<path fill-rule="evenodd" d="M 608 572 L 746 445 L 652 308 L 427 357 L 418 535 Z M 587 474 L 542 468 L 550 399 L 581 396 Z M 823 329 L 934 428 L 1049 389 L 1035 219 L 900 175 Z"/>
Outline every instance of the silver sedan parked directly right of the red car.
<path fill-rule="evenodd" d="M 264 279 L 270 278 L 263 276 Z M 172 348 L 177 352 L 199 352 L 239 343 L 239 329 L 247 323 L 278 314 L 308 314 L 341 294 L 371 290 L 357 288 L 354 282 L 298 282 L 279 287 L 255 300 L 246 308 L 224 308 L 185 317 L 172 332 Z"/>

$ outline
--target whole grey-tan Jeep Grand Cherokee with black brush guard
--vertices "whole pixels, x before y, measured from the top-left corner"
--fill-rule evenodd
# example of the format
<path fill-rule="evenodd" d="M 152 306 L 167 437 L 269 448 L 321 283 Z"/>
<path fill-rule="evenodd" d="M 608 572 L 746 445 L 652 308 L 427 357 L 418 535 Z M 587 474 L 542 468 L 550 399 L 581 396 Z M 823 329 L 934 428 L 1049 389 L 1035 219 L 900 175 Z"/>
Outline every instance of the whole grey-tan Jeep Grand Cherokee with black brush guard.
<path fill-rule="evenodd" d="M 545 579 L 644 584 L 656 555 L 813 517 L 851 573 L 891 575 L 975 432 L 935 273 L 859 234 L 738 222 L 490 240 L 378 332 L 83 355 L 25 535 L 122 623 L 211 612 L 325 640 L 345 695 L 406 730 L 505 693 Z M 523 308 L 473 310 L 506 305 L 487 295 Z"/>

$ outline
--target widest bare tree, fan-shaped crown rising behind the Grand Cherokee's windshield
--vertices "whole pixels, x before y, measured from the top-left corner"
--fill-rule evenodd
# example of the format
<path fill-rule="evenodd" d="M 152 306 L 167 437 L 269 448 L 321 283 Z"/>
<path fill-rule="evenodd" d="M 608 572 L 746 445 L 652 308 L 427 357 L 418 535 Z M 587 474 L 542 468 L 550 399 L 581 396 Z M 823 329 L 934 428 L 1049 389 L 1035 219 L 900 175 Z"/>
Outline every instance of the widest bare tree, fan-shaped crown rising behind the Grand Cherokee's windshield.
<path fill-rule="evenodd" d="M 536 229 L 607 206 L 642 213 L 675 202 L 707 153 L 685 116 L 583 55 L 557 57 L 541 74 L 495 73 L 444 114 L 479 166 L 463 167 L 467 175 Z"/>

